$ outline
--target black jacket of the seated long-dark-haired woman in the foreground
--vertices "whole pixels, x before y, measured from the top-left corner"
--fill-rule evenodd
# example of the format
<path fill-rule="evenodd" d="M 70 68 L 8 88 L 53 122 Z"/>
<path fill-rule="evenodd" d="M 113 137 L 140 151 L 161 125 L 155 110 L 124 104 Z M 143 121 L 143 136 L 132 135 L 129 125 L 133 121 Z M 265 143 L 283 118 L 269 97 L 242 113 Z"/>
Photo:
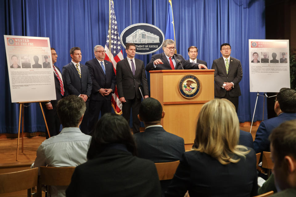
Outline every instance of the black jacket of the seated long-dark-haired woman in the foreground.
<path fill-rule="evenodd" d="M 76 167 L 66 196 L 160 196 L 154 163 L 109 149 Z"/>

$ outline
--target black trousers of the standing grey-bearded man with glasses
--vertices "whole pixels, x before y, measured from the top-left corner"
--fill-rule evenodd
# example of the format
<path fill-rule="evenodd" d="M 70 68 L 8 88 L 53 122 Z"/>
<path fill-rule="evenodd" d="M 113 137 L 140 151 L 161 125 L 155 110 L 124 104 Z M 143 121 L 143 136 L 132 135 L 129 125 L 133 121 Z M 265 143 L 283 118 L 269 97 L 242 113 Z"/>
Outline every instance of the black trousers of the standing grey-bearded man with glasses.
<path fill-rule="evenodd" d="M 100 112 L 101 117 L 106 113 L 111 113 L 111 100 L 89 101 L 88 131 L 91 133 L 95 129 Z"/>

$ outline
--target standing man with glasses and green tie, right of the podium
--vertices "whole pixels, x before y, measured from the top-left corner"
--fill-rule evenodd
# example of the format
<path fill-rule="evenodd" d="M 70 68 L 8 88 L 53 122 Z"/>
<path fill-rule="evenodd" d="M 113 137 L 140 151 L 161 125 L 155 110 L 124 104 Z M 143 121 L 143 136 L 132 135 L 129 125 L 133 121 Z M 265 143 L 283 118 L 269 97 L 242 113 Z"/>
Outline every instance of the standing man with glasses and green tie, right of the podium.
<path fill-rule="evenodd" d="M 226 98 L 234 104 L 236 112 L 238 97 L 241 95 L 239 82 L 243 77 L 241 61 L 230 57 L 231 46 L 224 43 L 220 46 L 222 57 L 212 64 L 215 81 L 215 98 Z"/>

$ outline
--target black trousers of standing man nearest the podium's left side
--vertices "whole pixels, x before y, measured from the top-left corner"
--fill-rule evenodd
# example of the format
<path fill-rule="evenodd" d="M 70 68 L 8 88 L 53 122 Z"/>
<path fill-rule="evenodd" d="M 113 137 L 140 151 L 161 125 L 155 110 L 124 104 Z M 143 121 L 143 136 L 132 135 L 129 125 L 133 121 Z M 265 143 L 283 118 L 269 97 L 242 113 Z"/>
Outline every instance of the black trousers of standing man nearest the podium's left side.
<path fill-rule="evenodd" d="M 122 103 L 122 116 L 130 123 L 130 108 L 132 108 L 133 117 L 133 133 L 140 132 L 140 121 L 138 119 L 138 114 L 140 111 L 140 104 L 142 98 L 125 99 L 125 103 Z"/>

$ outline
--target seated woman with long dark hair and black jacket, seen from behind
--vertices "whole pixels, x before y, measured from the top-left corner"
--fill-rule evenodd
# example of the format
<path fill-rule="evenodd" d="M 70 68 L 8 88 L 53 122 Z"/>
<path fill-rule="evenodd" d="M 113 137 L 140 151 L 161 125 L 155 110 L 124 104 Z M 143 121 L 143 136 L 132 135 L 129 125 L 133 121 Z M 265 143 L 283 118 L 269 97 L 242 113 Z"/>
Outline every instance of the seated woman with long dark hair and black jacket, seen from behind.
<path fill-rule="evenodd" d="M 130 126 L 120 115 L 106 113 L 97 122 L 87 153 L 77 166 L 67 196 L 160 196 L 154 163 L 140 159 Z"/>

